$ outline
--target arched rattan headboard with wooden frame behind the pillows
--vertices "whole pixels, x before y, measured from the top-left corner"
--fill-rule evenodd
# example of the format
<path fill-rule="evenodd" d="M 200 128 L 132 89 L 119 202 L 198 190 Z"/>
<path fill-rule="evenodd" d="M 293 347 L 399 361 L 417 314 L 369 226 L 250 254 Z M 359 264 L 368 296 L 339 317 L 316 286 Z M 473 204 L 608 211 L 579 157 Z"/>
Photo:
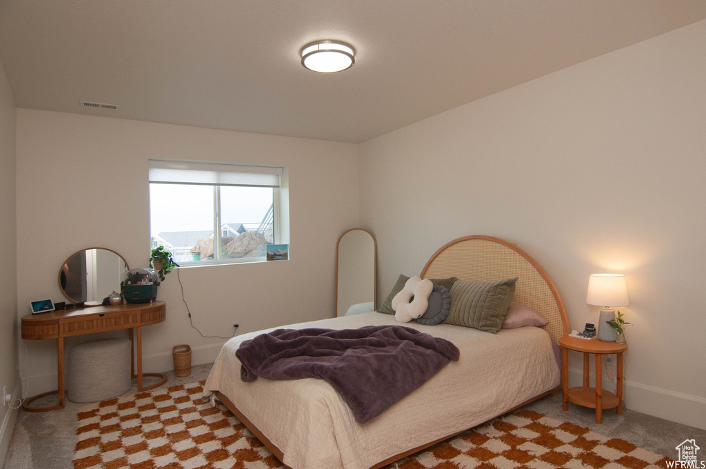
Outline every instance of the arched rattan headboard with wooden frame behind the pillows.
<path fill-rule="evenodd" d="M 569 332 L 566 308 L 554 282 L 530 254 L 504 239 L 481 235 L 454 239 L 431 256 L 420 276 L 456 276 L 472 282 L 518 277 L 513 299 L 549 320 L 544 330 L 554 340 Z"/>

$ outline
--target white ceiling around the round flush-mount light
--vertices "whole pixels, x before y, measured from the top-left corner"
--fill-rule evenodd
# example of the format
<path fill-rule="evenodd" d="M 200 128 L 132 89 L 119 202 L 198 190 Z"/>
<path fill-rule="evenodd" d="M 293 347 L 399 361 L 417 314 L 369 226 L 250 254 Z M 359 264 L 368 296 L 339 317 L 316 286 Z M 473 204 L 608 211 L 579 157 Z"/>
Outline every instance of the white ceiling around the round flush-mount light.
<path fill-rule="evenodd" d="M 359 143 L 705 18 L 704 0 L 0 0 L 0 60 L 18 107 Z M 352 69 L 304 69 L 321 39 L 353 44 Z"/>

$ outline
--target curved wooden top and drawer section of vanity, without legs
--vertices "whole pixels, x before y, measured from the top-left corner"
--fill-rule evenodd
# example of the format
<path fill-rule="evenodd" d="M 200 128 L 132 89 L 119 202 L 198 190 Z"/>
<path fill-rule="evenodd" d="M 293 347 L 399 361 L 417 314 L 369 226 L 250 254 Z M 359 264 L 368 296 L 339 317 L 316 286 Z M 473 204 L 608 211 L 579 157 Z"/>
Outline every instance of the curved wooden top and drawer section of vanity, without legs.
<path fill-rule="evenodd" d="M 22 338 L 42 340 L 149 326 L 164 321 L 166 310 L 164 302 L 155 301 L 28 314 L 22 318 Z"/>

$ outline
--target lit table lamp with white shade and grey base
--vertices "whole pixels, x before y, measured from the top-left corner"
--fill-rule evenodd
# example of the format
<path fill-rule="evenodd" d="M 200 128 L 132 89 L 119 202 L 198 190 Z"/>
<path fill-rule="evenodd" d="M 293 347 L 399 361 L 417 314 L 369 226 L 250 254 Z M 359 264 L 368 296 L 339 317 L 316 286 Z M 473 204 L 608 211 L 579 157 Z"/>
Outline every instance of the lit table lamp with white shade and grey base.
<path fill-rule="evenodd" d="M 598 320 L 598 340 L 615 342 L 618 333 L 606 321 L 615 319 L 613 306 L 628 306 L 628 285 L 621 273 L 593 273 L 588 278 L 586 302 L 602 306 Z"/>

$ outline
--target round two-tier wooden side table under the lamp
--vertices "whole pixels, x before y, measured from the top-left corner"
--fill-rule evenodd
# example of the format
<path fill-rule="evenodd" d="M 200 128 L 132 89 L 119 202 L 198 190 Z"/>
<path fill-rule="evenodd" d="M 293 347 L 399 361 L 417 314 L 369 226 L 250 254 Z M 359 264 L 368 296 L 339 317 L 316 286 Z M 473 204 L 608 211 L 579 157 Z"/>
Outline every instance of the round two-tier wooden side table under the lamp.
<path fill-rule="evenodd" d="M 575 337 L 563 336 L 559 338 L 561 346 L 561 386 L 563 388 L 563 409 L 569 410 L 569 402 L 596 410 L 596 423 L 603 421 L 603 409 L 616 407 L 616 413 L 623 415 L 623 352 L 628 350 L 628 344 L 617 342 L 603 342 L 597 338 L 585 340 Z M 568 351 L 583 352 L 583 386 L 569 389 L 569 360 Z M 588 386 L 588 372 L 590 354 L 596 355 L 596 387 Z M 602 355 L 618 355 L 618 376 L 616 393 L 602 389 Z"/>

